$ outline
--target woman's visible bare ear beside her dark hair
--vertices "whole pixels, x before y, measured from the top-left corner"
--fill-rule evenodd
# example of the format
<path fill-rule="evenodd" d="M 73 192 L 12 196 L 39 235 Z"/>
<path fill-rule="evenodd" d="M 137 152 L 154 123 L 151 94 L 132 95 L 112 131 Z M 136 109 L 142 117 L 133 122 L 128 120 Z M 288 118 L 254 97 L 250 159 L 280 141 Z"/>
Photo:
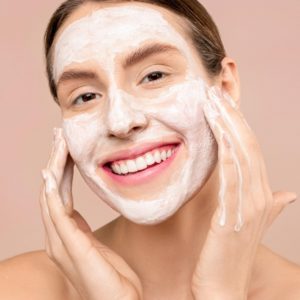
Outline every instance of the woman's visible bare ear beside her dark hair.
<path fill-rule="evenodd" d="M 235 61 L 229 57 L 222 60 L 222 71 L 219 75 L 219 84 L 222 90 L 240 106 L 240 78 Z"/>

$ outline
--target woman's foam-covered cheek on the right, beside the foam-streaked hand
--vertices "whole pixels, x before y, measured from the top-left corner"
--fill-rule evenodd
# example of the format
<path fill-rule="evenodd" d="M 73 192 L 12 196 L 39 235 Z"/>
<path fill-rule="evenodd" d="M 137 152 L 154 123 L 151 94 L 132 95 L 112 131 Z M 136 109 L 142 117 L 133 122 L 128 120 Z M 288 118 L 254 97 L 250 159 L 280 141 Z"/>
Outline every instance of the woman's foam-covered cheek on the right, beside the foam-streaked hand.
<path fill-rule="evenodd" d="M 183 137 L 187 155 L 192 161 L 191 172 L 196 174 L 202 170 L 203 178 L 217 157 L 217 143 L 203 110 L 204 103 L 208 101 L 205 88 L 201 80 L 183 84 L 159 106 L 159 115 L 156 114 L 159 121 Z"/>

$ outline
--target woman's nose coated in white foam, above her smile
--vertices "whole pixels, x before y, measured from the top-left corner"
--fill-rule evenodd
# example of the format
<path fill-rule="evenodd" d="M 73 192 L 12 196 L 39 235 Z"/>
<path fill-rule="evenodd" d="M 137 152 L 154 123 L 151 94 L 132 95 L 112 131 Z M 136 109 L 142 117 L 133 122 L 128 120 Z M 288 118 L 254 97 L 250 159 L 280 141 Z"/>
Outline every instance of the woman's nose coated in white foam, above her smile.
<path fill-rule="evenodd" d="M 108 136 L 126 139 L 147 127 L 145 113 L 133 105 L 133 97 L 125 92 L 118 90 L 110 93 L 106 115 Z"/>

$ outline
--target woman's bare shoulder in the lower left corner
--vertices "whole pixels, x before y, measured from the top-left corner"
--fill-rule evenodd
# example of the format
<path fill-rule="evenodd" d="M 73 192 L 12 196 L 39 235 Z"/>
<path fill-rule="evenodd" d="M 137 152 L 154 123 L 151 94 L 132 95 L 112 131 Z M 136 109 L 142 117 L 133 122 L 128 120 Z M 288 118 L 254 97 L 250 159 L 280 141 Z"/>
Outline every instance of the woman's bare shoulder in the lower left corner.
<path fill-rule="evenodd" d="M 76 299 L 70 283 L 45 251 L 20 254 L 0 262 L 0 299 Z"/>

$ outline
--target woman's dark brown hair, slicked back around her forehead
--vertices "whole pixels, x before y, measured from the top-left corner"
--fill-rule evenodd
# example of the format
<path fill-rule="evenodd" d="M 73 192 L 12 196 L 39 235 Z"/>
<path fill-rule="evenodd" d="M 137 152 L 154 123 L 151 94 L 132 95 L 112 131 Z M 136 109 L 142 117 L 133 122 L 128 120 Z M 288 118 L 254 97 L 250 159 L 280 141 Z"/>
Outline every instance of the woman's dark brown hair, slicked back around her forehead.
<path fill-rule="evenodd" d="M 161 6 L 184 17 L 190 24 L 192 40 L 209 76 L 214 77 L 221 72 L 221 62 L 226 56 L 225 49 L 216 24 L 197 0 L 67 0 L 52 15 L 44 39 L 47 76 L 51 94 L 55 99 L 57 91 L 52 72 L 53 41 L 64 21 L 87 2 L 144 2 Z"/>

